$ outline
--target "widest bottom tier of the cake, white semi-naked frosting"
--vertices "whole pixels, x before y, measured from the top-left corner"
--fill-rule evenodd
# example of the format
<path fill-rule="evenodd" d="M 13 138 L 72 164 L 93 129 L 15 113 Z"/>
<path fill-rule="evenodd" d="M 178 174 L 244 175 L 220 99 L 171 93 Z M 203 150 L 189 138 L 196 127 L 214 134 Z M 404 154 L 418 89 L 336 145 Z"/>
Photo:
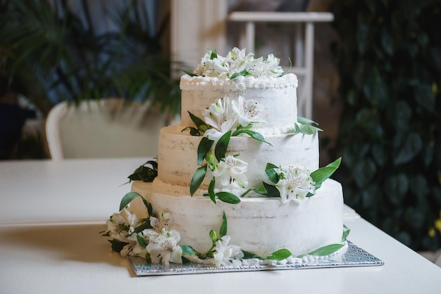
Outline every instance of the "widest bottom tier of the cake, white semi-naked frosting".
<path fill-rule="evenodd" d="M 285 204 L 279 198 L 242 198 L 236 205 L 215 204 L 204 196 L 170 196 L 157 191 L 154 183 L 142 181 L 134 181 L 132 191 L 151 203 L 156 214 L 170 213 L 169 229 L 180 233 L 181 245 L 191 245 L 199 253 L 210 250 L 209 232 L 219 232 L 223 212 L 230 244 L 261 257 L 282 248 L 294 256 L 303 255 L 342 241 L 342 186 L 332 179 L 323 182 L 313 197 Z M 143 206 L 133 203 L 135 213 L 135 205 Z"/>

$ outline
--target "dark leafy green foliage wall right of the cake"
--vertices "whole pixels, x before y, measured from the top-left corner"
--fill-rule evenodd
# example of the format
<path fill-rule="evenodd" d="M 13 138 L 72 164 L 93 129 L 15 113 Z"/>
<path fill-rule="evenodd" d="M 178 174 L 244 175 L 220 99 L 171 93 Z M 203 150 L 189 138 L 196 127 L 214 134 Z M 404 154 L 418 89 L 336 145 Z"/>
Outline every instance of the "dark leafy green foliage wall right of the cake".
<path fill-rule="evenodd" d="M 441 1 L 335 1 L 344 105 L 335 178 L 362 217 L 441 246 Z"/>

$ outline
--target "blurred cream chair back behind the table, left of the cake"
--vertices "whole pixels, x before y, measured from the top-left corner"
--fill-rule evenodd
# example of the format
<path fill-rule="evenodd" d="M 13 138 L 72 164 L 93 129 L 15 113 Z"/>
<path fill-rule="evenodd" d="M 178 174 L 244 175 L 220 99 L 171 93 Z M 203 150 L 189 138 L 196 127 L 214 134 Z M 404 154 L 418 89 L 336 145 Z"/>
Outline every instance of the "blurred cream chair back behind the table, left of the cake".
<path fill-rule="evenodd" d="M 52 160 L 66 158 L 148 157 L 158 153 L 159 130 L 170 115 L 149 103 L 121 98 L 58 103 L 46 118 L 46 140 Z"/>

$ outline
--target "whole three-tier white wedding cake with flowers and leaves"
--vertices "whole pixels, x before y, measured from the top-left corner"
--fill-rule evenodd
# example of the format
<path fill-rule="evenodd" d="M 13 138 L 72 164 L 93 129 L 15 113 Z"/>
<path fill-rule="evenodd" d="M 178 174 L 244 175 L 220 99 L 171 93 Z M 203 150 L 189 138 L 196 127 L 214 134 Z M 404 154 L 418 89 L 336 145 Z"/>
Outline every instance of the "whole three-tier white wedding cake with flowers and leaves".
<path fill-rule="evenodd" d="M 321 129 L 297 117 L 296 75 L 272 54 L 209 50 L 180 89 L 180 124 L 161 129 L 157 160 L 108 220 L 114 250 L 228 267 L 344 247 L 340 159 L 319 168 Z"/>

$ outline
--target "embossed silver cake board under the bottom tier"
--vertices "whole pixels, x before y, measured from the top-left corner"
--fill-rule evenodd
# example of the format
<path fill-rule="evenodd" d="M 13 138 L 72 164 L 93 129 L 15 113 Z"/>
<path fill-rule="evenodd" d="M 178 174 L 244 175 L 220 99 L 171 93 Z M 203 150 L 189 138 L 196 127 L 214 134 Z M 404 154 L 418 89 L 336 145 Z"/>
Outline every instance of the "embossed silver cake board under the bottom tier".
<path fill-rule="evenodd" d="M 137 276 L 165 276 L 175 274 L 209 274 L 237 271 L 273 271 L 282 269 L 321 269 L 334 267 L 372 267 L 384 264 L 382 260 L 347 241 L 346 252 L 331 258 L 313 259 L 301 263 L 270 265 L 249 265 L 241 267 L 213 267 L 211 264 L 149 264 L 141 257 L 129 257 Z"/>

